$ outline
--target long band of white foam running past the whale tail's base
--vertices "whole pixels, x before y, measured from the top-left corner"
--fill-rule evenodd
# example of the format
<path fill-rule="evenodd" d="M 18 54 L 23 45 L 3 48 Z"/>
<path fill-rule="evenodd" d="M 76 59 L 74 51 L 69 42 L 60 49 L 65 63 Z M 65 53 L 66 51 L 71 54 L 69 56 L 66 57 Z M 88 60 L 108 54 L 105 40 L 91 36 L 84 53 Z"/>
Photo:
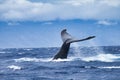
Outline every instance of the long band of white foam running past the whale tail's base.
<path fill-rule="evenodd" d="M 23 57 L 14 59 L 16 62 L 63 62 L 63 61 L 75 61 L 75 60 L 81 60 L 81 61 L 101 61 L 101 62 L 119 62 L 120 61 L 120 55 L 113 55 L 113 54 L 98 54 L 96 56 L 91 57 L 79 57 L 79 56 L 72 56 L 68 57 L 67 59 L 57 59 L 53 60 L 52 58 L 29 58 L 29 57 Z"/>

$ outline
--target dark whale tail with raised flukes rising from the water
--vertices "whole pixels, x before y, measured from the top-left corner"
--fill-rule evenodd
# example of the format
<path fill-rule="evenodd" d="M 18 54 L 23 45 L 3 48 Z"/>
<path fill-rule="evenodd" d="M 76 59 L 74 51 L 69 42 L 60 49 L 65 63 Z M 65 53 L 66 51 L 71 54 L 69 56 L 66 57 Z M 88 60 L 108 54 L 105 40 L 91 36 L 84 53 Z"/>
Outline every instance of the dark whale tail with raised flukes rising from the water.
<path fill-rule="evenodd" d="M 53 59 L 58 59 L 58 58 L 60 58 L 60 59 L 66 59 L 71 43 L 85 41 L 85 40 L 89 40 L 89 39 L 92 39 L 92 38 L 95 37 L 95 36 L 89 36 L 89 37 L 84 38 L 84 39 L 75 39 L 74 37 L 72 37 L 66 31 L 67 31 L 66 29 L 63 29 L 61 31 L 61 38 L 62 38 L 63 44 L 61 46 L 60 51 L 54 56 Z"/>

